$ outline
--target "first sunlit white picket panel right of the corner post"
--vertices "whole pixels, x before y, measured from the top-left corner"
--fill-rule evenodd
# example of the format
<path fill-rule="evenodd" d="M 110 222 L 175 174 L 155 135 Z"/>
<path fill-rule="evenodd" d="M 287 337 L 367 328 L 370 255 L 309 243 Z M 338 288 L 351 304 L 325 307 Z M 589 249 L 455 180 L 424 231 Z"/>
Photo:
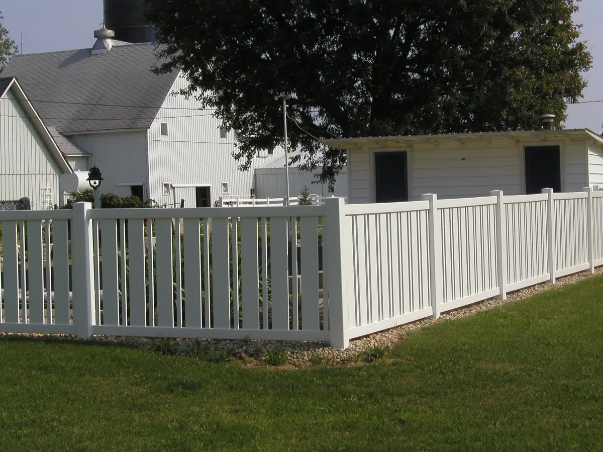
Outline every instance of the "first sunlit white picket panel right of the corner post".
<path fill-rule="evenodd" d="M 344 206 L 350 338 L 431 314 L 428 208 L 425 201 Z"/>

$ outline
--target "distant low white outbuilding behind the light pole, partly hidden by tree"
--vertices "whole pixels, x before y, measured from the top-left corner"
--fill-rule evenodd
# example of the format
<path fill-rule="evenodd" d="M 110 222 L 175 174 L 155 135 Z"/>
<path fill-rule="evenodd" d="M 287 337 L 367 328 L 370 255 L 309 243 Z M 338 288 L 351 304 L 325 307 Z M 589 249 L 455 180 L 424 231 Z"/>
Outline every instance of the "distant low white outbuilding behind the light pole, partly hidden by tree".
<path fill-rule="evenodd" d="M 303 171 L 298 167 L 289 167 L 289 194 L 291 197 L 299 196 L 304 186 L 311 194 L 318 196 L 347 197 L 347 167 L 344 167 L 335 179 L 335 193 L 329 193 L 329 185 L 317 183 L 317 174 L 323 167 L 314 171 Z M 266 162 L 255 170 L 255 195 L 257 199 L 282 198 L 287 193 L 287 177 L 285 168 L 285 154 Z"/>

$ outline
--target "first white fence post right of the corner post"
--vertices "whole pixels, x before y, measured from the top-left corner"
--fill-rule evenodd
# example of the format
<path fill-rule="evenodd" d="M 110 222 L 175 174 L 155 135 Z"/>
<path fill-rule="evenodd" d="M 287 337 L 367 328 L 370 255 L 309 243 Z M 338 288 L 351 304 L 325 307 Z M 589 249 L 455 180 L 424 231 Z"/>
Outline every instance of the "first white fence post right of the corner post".
<path fill-rule="evenodd" d="M 437 194 L 428 193 L 421 196 L 421 199 L 429 201 L 429 273 L 431 281 L 431 307 L 434 312 L 434 319 L 440 318 L 440 310 L 443 296 L 442 287 L 442 232 L 440 213 L 435 203 L 438 200 Z"/>

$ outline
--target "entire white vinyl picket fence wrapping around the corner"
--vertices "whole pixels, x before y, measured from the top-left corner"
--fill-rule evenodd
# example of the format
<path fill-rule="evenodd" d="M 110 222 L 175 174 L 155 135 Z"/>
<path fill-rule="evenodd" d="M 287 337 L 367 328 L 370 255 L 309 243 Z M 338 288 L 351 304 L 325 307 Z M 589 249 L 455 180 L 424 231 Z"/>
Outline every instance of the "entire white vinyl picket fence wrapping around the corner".
<path fill-rule="evenodd" d="M 0 212 L 0 331 L 329 341 L 603 264 L 603 192 Z M 45 256 L 50 256 L 46 259 Z"/>

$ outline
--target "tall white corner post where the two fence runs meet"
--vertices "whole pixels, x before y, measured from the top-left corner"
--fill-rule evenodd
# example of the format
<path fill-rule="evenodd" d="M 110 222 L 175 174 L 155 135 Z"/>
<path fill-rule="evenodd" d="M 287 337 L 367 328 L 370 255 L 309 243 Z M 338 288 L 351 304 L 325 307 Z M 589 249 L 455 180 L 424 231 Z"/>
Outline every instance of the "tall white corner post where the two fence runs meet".
<path fill-rule="evenodd" d="M 350 247 L 348 231 L 344 227 L 345 215 L 342 212 L 344 200 L 341 198 L 328 199 L 326 202 L 326 215 L 323 218 L 323 228 L 326 238 L 323 246 L 327 246 L 327 278 L 329 300 L 329 330 L 331 346 L 347 348 L 350 345 L 349 319 L 346 293 L 346 272 L 344 265 L 347 262 L 344 253 Z"/>

